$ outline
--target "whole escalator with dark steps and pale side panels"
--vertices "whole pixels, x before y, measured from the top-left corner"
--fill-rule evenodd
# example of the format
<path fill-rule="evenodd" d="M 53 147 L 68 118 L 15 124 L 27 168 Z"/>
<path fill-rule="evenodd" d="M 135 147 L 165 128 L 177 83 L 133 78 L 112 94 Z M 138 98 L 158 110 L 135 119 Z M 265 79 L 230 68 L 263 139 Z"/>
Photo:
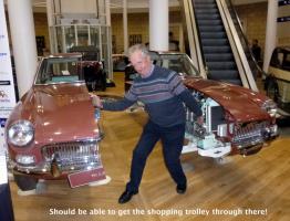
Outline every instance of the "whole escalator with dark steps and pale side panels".
<path fill-rule="evenodd" d="M 261 70 L 252 59 L 231 1 L 180 2 L 187 30 L 185 45 L 201 75 L 258 91 L 255 75 Z"/>

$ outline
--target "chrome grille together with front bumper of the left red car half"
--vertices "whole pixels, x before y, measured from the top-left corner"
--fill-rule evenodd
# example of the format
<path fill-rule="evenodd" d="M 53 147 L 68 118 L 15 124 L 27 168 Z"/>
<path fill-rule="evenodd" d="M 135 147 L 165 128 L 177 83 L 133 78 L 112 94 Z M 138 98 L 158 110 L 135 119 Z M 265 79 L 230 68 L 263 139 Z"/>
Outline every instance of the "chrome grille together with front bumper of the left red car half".
<path fill-rule="evenodd" d="M 59 177 L 102 166 L 96 140 L 46 145 L 42 147 L 43 161 L 37 165 L 20 165 L 11 161 L 15 171 Z"/>

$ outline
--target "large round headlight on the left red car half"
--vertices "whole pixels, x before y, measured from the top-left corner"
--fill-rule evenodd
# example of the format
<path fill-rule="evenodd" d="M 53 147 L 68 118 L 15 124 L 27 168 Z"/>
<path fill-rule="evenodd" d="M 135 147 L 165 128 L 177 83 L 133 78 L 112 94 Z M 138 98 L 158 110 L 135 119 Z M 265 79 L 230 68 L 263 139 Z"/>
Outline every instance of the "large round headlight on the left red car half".
<path fill-rule="evenodd" d="M 18 120 L 8 128 L 8 141 L 15 146 L 25 146 L 34 137 L 34 129 L 30 122 Z"/>

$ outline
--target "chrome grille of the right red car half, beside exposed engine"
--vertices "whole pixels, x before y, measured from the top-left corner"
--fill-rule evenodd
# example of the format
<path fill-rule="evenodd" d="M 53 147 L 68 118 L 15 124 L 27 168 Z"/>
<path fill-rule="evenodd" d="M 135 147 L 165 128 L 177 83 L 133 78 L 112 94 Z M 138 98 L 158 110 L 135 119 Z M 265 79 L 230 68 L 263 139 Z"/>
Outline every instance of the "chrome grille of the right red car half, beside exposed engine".
<path fill-rule="evenodd" d="M 232 138 L 232 145 L 238 148 L 245 148 L 263 143 L 263 130 L 269 126 L 269 123 L 249 123 L 242 125 Z"/>

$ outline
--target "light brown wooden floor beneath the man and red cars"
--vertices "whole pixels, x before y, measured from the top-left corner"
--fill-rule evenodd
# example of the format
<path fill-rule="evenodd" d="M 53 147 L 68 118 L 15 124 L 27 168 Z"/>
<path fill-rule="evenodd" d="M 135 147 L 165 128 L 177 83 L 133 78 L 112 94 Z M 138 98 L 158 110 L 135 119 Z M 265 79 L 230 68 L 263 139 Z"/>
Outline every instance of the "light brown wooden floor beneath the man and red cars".
<path fill-rule="evenodd" d="M 122 94 L 122 80 L 116 74 L 117 87 L 106 93 Z M 101 152 L 112 178 L 105 186 L 71 189 L 66 181 L 48 181 L 41 194 L 21 197 L 11 181 L 15 220 L 290 220 L 290 137 L 279 138 L 255 156 L 229 157 L 224 164 L 184 155 L 188 190 L 183 196 L 175 191 L 158 144 L 147 160 L 139 193 L 118 204 L 132 149 L 145 122 L 143 112 L 102 113 Z"/>

